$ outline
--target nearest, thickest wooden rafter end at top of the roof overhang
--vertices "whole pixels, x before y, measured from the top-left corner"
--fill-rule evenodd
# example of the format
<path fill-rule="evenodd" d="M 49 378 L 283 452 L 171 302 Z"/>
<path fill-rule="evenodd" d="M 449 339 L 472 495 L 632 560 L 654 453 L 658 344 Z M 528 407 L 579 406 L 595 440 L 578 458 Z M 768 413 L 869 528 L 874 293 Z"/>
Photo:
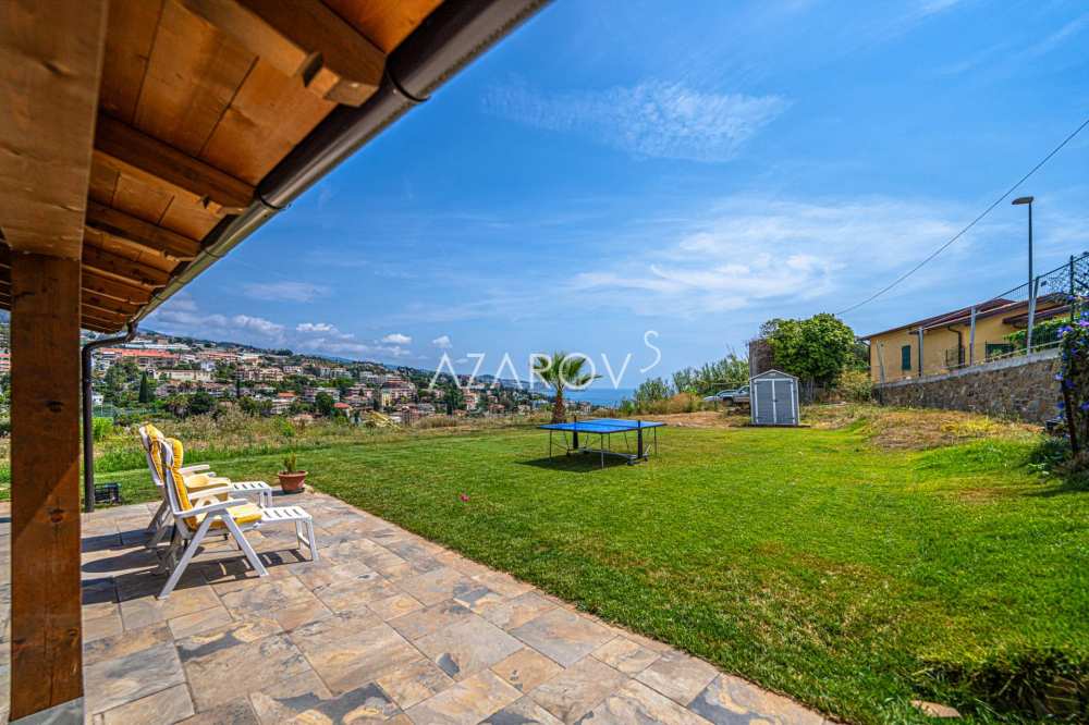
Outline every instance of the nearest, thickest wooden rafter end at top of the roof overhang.
<path fill-rule="evenodd" d="M 180 0 L 318 97 L 360 106 L 374 95 L 386 53 L 320 0 Z"/>

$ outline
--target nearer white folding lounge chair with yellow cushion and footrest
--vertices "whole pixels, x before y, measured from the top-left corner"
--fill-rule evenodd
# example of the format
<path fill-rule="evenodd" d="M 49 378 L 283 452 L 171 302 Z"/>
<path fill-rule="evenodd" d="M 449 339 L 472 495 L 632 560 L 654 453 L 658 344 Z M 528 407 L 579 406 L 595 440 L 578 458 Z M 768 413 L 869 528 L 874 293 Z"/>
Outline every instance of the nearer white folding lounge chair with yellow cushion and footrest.
<path fill-rule="evenodd" d="M 160 570 L 170 572 L 170 577 L 159 592 L 159 599 L 166 599 L 174 590 L 185 567 L 200 549 L 200 542 L 209 531 L 233 537 L 249 565 L 258 576 L 264 577 L 268 570 L 246 540 L 244 531 L 254 530 L 262 524 L 293 521 L 298 548 L 309 546 L 310 561 L 318 561 L 314 519 L 302 506 L 259 506 L 245 499 L 232 497 L 233 491 L 227 488 L 191 492 L 186 489 L 185 476 L 178 465 L 183 458 L 181 441 L 160 438 L 152 441 L 152 445 L 156 446 L 159 459 L 162 462 L 163 488 L 174 519 L 170 548 L 166 551 L 159 567 Z"/>

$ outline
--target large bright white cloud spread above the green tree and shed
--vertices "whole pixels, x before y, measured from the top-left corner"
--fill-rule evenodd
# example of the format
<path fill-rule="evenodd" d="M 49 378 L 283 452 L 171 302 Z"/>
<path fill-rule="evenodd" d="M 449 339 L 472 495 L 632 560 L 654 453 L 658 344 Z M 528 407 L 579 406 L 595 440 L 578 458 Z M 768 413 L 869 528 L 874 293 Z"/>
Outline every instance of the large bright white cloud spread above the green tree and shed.
<path fill-rule="evenodd" d="M 695 316 L 818 298 L 839 309 L 952 236 L 957 218 L 939 205 L 882 198 L 737 197 L 659 253 L 576 275 L 573 292 L 637 314 Z M 965 238 L 946 254 L 967 249 Z M 918 278 L 913 284 L 926 274 Z"/>

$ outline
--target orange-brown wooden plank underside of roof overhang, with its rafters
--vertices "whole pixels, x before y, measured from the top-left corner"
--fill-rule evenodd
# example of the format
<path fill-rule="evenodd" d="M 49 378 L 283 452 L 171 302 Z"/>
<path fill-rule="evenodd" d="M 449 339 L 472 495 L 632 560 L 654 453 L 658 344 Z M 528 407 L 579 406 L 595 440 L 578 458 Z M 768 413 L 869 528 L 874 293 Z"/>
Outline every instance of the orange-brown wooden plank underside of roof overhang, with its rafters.
<path fill-rule="evenodd" d="M 28 0 L 13 2 L 34 12 Z M 357 103 L 369 97 L 386 56 L 439 4 L 113 2 L 101 21 L 99 147 L 86 171 L 81 205 L 88 213 L 82 249 L 75 247 L 84 261 L 84 327 L 113 332 L 137 317 L 199 254 L 223 216 L 246 206 L 268 172 L 337 107 L 329 98 Z M 194 5 L 212 15 L 228 7 L 229 21 L 238 9 L 256 13 L 272 35 L 240 34 L 230 22 L 209 22 L 216 17 L 208 12 L 194 14 Z M 335 37 L 323 38 L 322 28 Z M 319 40 L 335 47 L 318 47 Z M 358 84 L 347 87 L 344 78 Z M 10 225 L 8 208 L 0 212 Z M 10 254 L 0 243 L 0 292 L 8 288 Z"/>

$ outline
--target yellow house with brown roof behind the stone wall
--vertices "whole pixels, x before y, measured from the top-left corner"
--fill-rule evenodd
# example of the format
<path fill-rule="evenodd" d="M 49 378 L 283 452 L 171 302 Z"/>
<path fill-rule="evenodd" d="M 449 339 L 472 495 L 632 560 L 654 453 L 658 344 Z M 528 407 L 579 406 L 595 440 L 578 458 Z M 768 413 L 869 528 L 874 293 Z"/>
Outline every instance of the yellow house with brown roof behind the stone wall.
<path fill-rule="evenodd" d="M 998 298 L 975 309 L 975 336 L 972 308 L 963 307 L 860 337 L 870 344 L 871 380 L 940 374 L 1012 352 L 1007 335 L 1028 327 L 1028 302 Z M 1037 300 L 1036 324 L 1068 314 L 1063 295 L 1044 295 Z"/>

